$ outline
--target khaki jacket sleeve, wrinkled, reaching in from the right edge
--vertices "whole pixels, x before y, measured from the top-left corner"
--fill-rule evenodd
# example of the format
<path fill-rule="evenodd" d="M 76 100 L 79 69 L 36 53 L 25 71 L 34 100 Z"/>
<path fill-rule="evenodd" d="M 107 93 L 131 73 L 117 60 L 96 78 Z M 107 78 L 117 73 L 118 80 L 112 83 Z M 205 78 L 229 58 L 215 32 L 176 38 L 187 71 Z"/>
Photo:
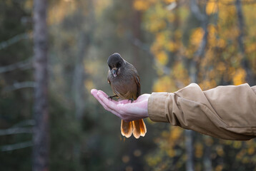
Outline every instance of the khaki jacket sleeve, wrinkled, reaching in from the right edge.
<path fill-rule="evenodd" d="M 152 93 L 149 118 L 226 140 L 256 137 L 256 86 L 218 86 L 202 91 L 192 83 L 174 93 Z"/>

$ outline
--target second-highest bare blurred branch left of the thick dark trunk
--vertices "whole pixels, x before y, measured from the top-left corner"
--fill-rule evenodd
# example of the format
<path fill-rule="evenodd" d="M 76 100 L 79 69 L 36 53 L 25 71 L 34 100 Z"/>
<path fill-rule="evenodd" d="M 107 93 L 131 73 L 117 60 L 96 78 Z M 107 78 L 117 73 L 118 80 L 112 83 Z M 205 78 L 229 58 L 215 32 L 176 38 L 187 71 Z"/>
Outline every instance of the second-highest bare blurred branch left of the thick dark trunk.
<path fill-rule="evenodd" d="M 32 68 L 32 58 L 29 58 L 25 61 L 21 61 L 18 63 L 13 63 L 9 66 L 1 66 L 0 67 L 0 73 L 6 73 L 9 71 L 14 71 L 16 69 L 28 69 Z"/>

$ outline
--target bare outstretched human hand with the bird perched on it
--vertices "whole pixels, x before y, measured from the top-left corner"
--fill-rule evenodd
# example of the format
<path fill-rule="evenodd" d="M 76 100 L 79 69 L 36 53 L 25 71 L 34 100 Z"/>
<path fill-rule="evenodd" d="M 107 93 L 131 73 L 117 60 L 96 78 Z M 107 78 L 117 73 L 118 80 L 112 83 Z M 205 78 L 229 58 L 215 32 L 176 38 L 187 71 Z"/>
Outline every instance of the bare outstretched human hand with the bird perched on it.
<path fill-rule="evenodd" d="M 117 115 L 122 120 L 130 121 L 149 117 L 147 113 L 147 101 L 150 94 L 140 95 L 137 100 L 131 103 L 129 100 L 111 100 L 102 90 L 92 89 L 91 93 L 102 104 L 105 110 Z"/>

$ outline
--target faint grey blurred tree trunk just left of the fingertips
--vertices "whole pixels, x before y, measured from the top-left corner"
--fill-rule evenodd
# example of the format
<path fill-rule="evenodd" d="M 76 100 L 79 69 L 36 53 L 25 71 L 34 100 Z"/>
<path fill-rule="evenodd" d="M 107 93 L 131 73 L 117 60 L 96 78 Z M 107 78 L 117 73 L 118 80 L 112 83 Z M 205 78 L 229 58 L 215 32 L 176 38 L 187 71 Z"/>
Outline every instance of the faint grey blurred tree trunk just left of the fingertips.
<path fill-rule="evenodd" d="M 81 123 L 82 117 L 85 111 L 85 71 L 84 71 L 84 58 L 90 43 L 90 35 L 92 35 L 92 30 L 94 27 L 94 14 L 93 14 L 93 4 L 92 1 L 79 1 L 79 8 L 77 9 L 79 13 L 79 19 L 82 23 L 79 27 L 79 33 L 77 36 L 77 54 L 74 63 L 74 75 L 72 82 L 72 95 L 74 98 L 74 110 L 75 119 L 78 123 Z M 87 14 L 84 15 L 84 10 Z M 85 26 L 89 26 L 86 28 Z M 73 148 L 74 162 L 77 163 L 77 170 L 82 170 L 81 160 L 81 142 L 76 142 Z"/>

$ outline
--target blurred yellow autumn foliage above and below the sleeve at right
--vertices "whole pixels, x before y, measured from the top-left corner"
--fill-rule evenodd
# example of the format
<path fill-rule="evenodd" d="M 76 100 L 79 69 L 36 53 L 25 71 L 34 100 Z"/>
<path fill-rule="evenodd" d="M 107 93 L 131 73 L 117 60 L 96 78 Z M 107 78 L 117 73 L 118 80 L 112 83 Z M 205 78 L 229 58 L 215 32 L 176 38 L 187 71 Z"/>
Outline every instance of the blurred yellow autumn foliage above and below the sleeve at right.
<path fill-rule="evenodd" d="M 150 51 L 157 65 L 169 69 L 164 72 L 161 67 L 156 68 L 158 78 L 152 90 L 173 92 L 187 86 L 191 82 L 189 62 L 192 60 L 197 61 L 197 83 L 202 90 L 247 83 L 250 79 L 248 71 L 252 72 L 251 84 L 255 85 L 256 32 L 252 30 L 255 30 L 256 23 L 252 21 L 256 21 L 253 12 L 256 4 L 242 1 L 245 26 L 241 28 L 236 1 L 198 1 L 198 9 L 202 13 L 205 11 L 207 17 L 207 28 L 204 30 L 191 11 L 191 3 L 162 0 L 147 1 L 143 6 L 142 1 L 134 1 L 134 8 L 143 12 L 144 29 L 154 35 Z M 197 58 L 195 55 L 205 31 L 207 45 L 204 55 Z M 245 51 L 241 51 L 240 47 L 241 34 Z M 152 170 L 185 169 L 187 157 L 183 132 L 170 127 L 154 138 L 157 149 L 146 157 Z M 207 155 L 212 170 L 252 170 L 256 165 L 255 140 L 232 142 L 205 135 L 195 136 L 195 170 L 204 170 Z M 209 152 L 206 152 L 207 149 Z"/>

